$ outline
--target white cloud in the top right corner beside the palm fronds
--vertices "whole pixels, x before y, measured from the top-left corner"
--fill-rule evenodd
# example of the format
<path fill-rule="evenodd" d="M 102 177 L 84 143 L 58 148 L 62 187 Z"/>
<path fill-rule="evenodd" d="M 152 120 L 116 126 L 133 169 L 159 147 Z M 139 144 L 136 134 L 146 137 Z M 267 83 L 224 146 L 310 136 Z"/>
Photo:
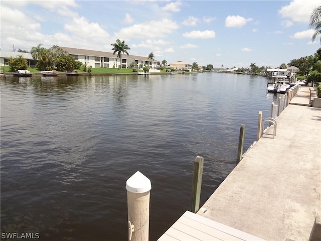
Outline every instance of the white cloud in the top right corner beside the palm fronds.
<path fill-rule="evenodd" d="M 288 18 L 292 22 L 308 23 L 314 8 L 320 5 L 319 0 L 293 0 L 289 5 L 278 10 L 282 18 Z"/>

